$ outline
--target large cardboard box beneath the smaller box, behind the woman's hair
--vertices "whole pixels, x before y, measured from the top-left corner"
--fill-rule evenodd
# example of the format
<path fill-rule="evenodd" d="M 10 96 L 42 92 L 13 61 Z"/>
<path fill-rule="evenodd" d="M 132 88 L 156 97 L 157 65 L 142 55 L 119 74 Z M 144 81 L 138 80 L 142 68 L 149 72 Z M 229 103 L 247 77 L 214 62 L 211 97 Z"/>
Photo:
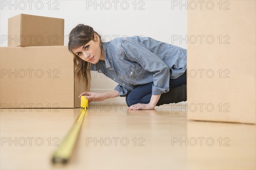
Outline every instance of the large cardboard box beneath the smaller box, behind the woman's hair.
<path fill-rule="evenodd" d="M 67 46 L 0 47 L 1 108 L 79 108 L 90 91 L 74 78 Z"/>

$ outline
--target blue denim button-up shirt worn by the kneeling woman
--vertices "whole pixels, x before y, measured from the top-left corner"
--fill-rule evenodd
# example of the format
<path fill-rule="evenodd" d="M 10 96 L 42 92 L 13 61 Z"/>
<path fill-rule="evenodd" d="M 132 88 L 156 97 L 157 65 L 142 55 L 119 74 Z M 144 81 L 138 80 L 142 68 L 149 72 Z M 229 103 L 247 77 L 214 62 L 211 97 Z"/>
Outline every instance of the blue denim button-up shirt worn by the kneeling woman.
<path fill-rule="evenodd" d="M 136 86 L 154 82 L 152 95 L 169 91 L 169 79 L 186 71 L 186 49 L 163 43 L 151 37 L 118 37 L 102 42 L 105 61 L 90 69 L 118 83 L 114 88 L 125 97 Z"/>

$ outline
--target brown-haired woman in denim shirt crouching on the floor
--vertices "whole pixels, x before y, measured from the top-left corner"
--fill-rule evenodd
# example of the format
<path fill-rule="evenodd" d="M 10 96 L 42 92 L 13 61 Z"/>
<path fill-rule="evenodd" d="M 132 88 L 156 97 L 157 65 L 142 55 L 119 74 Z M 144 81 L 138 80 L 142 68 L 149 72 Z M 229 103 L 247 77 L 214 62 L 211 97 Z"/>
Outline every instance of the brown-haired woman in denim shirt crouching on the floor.
<path fill-rule="evenodd" d="M 110 92 L 83 92 L 89 101 L 126 97 L 128 109 L 154 109 L 186 101 L 186 49 L 140 36 L 102 42 L 99 34 L 84 24 L 70 32 L 68 49 L 74 55 L 79 80 L 88 85 L 93 70 L 118 83 Z"/>

